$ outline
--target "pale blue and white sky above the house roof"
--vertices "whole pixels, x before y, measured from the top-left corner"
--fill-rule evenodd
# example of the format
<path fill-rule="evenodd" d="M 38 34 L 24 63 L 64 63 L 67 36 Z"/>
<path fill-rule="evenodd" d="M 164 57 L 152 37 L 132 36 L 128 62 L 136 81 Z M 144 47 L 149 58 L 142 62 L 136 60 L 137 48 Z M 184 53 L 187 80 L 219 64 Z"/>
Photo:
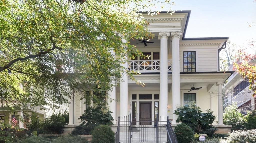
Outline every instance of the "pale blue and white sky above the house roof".
<path fill-rule="evenodd" d="M 185 37 L 229 37 L 243 45 L 256 39 L 255 0 L 174 0 L 172 10 L 191 10 Z M 254 26 L 249 27 L 255 22 Z"/>

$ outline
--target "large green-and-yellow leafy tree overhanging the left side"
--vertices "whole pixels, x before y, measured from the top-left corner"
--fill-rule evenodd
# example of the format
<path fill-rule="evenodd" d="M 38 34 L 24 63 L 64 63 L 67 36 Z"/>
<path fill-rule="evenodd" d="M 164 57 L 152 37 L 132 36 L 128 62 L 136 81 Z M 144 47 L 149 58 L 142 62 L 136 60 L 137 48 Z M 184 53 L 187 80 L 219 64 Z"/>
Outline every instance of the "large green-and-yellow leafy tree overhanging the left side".
<path fill-rule="evenodd" d="M 130 39 L 152 38 L 140 9 L 151 0 L 0 1 L 2 106 L 28 109 L 68 103 L 75 89 L 111 90 L 127 72 L 120 62 L 141 54 Z M 164 4 L 172 3 L 164 1 Z M 167 5 L 170 7 L 170 5 Z M 172 13 L 172 11 L 170 11 Z M 120 36 L 118 36 L 118 34 Z M 123 43 L 121 39 L 126 39 Z M 120 58 L 111 55 L 115 51 Z M 132 77 L 132 72 L 127 72 Z M 81 97 L 85 98 L 85 97 Z M 28 106 L 29 103 L 29 106 Z M 55 108 L 51 104 L 52 108 Z"/>

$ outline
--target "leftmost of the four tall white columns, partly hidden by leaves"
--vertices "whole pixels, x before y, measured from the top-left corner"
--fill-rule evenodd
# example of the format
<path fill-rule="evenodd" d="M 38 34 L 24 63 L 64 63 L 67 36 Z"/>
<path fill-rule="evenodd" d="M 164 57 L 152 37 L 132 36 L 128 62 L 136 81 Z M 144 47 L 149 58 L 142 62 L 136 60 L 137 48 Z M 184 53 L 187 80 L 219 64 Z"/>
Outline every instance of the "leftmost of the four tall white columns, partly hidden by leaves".
<path fill-rule="evenodd" d="M 115 52 L 113 50 L 111 50 L 111 55 L 115 58 Z M 114 83 L 115 83 L 115 81 L 112 82 L 112 84 L 114 84 Z M 108 101 L 108 104 L 109 104 L 109 111 L 112 112 L 111 116 L 114 119 L 113 124 L 116 124 L 116 102 L 115 102 L 116 94 L 115 94 L 115 85 L 112 88 L 113 88 L 112 91 L 111 90 L 108 91 L 109 98 L 111 98 L 111 100 L 112 100 L 111 102 Z"/>

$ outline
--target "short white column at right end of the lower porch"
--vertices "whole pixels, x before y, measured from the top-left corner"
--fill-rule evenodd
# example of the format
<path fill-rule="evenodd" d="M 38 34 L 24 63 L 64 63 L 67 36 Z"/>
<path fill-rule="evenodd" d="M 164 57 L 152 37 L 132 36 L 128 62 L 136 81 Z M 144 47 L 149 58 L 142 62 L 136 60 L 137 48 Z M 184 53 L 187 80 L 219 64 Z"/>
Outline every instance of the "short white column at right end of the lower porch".
<path fill-rule="evenodd" d="M 222 83 L 218 82 L 218 125 L 224 125 L 222 96 Z"/>

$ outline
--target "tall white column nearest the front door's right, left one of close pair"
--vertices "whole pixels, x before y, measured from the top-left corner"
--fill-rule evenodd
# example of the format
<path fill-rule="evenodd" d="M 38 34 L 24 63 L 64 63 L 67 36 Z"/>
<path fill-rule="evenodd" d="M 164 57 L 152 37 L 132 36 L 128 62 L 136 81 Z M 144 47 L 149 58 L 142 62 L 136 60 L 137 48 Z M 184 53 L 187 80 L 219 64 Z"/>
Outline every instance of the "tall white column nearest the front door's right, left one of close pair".
<path fill-rule="evenodd" d="M 160 39 L 160 95 L 159 117 L 167 118 L 168 106 L 168 37 L 170 32 L 159 32 Z M 162 119 L 162 118 L 161 118 Z"/>

